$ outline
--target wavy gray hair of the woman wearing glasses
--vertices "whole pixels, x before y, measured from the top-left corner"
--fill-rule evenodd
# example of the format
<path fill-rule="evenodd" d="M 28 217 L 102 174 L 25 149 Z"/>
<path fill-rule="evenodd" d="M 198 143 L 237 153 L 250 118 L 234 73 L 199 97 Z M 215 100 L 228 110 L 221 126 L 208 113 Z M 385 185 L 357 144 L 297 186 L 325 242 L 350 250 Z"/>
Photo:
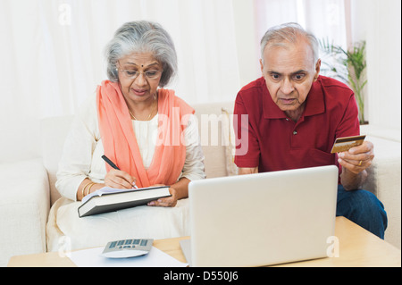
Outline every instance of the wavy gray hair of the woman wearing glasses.
<path fill-rule="evenodd" d="M 115 82 L 119 80 L 117 62 L 131 53 L 154 54 L 155 59 L 163 64 L 160 87 L 166 86 L 177 71 L 177 54 L 171 36 L 162 26 L 151 21 L 130 21 L 117 29 L 114 37 L 105 48 L 107 77 Z"/>

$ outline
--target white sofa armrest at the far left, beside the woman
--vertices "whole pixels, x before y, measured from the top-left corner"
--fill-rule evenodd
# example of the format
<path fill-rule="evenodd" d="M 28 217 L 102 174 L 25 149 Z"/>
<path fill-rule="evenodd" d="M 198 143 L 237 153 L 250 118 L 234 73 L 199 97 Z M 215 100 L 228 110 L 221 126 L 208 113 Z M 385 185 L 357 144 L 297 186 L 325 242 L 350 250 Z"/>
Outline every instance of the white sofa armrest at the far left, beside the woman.
<path fill-rule="evenodd" d="M 11 256 L 46 252 L 49 181 L 41 159 L 0 163 L 0 266 Z"/>

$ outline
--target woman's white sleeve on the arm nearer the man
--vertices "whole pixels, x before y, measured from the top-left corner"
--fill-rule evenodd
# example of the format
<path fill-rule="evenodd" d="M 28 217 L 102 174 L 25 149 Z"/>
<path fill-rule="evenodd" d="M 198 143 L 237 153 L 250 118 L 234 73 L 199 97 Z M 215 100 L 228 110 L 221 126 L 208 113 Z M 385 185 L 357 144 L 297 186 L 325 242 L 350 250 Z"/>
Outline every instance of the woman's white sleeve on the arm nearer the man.
<path fill-rule="evenodd" d="M 188 180 L 205 179 L 204 153 L 198 134 L 197 117 L 191 114 L 188 118 L 188 126 L 184 130 L 186 144 L 186 161 L 183 166 L 181 177 Z"/>

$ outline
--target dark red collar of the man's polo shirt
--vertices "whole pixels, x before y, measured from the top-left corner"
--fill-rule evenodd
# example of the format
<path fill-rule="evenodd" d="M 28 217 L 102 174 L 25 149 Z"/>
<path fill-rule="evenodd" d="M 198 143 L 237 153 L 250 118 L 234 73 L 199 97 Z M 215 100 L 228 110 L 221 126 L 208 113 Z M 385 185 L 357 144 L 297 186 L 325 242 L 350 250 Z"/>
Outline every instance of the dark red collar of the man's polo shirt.
<path fill-rule="evenodd" d="M 264 80 L 263 88 L 263 110 L 265 119 L 285 119 L 285 112 L 281 111 L 278 105 L 272 101 L 272 97 L 266 88 Z M 316 80 L 306 98 L 306 109 L 302 116 L 313 116 L 325 112 L 325 101 L 322 92 L 322 82 L 319 77 Z"/>

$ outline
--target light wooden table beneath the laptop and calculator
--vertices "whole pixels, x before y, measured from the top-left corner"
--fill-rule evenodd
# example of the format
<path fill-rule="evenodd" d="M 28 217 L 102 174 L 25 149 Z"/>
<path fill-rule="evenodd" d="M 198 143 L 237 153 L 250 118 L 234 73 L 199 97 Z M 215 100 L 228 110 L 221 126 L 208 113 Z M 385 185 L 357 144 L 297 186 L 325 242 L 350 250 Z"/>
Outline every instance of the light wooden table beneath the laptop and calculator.
<path fill-rule="evenodd" d="M 369 231 L 350 222 L 344 217 L 337 217 L 335 236 L 339 239 L 339 257 L 326 257 L 290 264 L 275 266 L 401 266 L 401 251 L 388 242 L 377 238 Z M 186 262 L 183 256 L 179 240 L 189 237 L 174 239 L 158 239 L 154 246 L 163 250 L 170 256 L 181 262 Z M 60 257 L 58 252 L 48 252 L 27 256 L 13 256 L 8 263 L 9 267 L 59 267 L 75 266 L 68 257 Z"/>

